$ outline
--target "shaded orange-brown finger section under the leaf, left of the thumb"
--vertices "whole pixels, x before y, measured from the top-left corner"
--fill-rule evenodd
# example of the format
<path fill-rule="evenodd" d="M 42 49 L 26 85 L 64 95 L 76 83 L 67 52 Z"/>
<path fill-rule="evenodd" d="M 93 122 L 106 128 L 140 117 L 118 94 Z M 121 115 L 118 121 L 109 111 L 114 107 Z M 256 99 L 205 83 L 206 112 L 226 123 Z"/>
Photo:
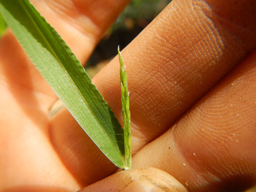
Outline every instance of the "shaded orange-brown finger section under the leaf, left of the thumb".
<path fill-rule="evenodd" d="M 81 186 L 97 182 L 116 170 L 66 108 L 51 119 L 49 126 L 52 145 Z"/>

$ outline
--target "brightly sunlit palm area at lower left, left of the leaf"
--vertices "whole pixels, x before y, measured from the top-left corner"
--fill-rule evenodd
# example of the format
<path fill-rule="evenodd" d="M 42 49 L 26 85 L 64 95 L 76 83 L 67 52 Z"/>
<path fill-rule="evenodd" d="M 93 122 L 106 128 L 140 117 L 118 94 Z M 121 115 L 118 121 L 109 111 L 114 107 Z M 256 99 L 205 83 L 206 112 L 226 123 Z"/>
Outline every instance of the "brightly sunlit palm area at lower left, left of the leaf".
<path fill-rule="evenodd" d="M 9 31 L 0 40 L 0 69 L 5 72 L 0 83 L 0 191 L 55 191 L 59 186 L 62 191 L 78 190 L 49 143 L 49 108 L 44 104 L 54 96 L 42 91 L 47 90 L 43 84 L 37 89 L 40 78 L 31 81 L 37 71 L 24 65 L 29 59 L 22 49 L 12 52 L 19 46 Z"/>

